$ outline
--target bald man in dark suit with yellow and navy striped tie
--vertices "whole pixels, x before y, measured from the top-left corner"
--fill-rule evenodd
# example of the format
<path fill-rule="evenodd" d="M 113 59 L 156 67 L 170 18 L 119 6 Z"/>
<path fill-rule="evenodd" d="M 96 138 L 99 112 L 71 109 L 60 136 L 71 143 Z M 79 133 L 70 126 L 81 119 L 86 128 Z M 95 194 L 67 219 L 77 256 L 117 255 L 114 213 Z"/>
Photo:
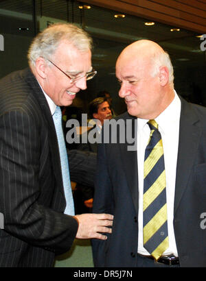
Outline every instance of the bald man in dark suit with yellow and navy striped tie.
<path fill-rule="evenodd" d="M 128 112 L 98 150 L 93 212 L 114 221 L 107 241 L 93 239 L 95 266 L 205 267 L 206 109 L 176 94 L 170 58 L 150 40 L 122 51 L 116 75 Z"/>

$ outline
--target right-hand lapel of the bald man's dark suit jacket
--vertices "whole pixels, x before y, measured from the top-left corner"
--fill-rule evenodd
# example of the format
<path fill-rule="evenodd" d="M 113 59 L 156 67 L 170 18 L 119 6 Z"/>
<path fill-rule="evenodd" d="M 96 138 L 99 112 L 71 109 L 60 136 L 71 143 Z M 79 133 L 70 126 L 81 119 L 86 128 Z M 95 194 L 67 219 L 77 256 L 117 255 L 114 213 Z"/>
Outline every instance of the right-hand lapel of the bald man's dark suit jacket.
<path fill-rule="evenodd" d="M 181 119 L 179 127 L 179 151 L 176 165 L 176 186 L 174 197 L 174 214 L 187 186 L 190 171 L 194 164 L 196 150 L 201 136 L 198 117 L 192 106 L 181 99 Z"/>

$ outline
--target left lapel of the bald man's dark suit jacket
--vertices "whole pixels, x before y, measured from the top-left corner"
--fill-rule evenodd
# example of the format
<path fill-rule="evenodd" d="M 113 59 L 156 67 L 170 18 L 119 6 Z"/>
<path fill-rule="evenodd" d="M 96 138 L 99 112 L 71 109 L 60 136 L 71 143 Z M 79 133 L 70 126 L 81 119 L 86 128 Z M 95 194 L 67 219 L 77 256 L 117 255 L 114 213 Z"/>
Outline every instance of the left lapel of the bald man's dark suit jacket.
<path fill-rule="evenodd" d="M 135 117 L 131 117 L 127 114 L 126 119 L 132 123 L 132 135 L 135 140 L 137 140 L 136 132 L 137 132 L 137 120 Z M 128 124 L 129 126 L 129 124 Z M 127 127 L 127 126 L 126 126 Z M 136 129 L 136 130 L 135 130 Z M 124 164 L 124 171 L 126 173 L 126 180 L 128 182 L 128 187 L 130 189 L 131 197 L 133 199 L 133 204 L 135 206 L 135 210 L 138 213 L 138 170 L 137 170 L 137 147 L 133 144 L 133 150 L 129 150 L 128 147 L 131 148 L 131 144 L 128 143 L 128 138 L 126 136 L 125 130 L 125 143 L 120 143 L 120 153 L 122 157 L 122 163 Z M 135 147 L 135 149 L 134 149 Z"/>

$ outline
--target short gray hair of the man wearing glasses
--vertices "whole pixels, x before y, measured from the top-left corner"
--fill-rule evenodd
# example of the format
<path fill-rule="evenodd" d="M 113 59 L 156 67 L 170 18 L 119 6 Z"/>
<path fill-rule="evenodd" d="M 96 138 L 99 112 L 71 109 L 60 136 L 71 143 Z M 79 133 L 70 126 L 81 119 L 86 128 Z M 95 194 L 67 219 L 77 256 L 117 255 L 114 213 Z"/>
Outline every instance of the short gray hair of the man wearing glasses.
<path fill-rule="evenodd" d="M 33 39 L 27 54 L 29 63 L 35 65 L 39 57 L 50 58 L 62 40 L 66 40 L 79 51 L 92 49 L 92 39 L 83 29 L 71 23 L 55 23 Z"/>

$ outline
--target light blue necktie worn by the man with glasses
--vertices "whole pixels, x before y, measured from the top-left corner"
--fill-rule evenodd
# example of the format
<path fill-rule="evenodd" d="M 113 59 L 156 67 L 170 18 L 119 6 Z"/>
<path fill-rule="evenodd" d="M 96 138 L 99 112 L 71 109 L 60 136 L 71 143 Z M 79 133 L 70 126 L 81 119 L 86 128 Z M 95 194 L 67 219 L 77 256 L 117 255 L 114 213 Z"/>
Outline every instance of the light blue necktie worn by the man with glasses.
<path fill-rule="evenodd" d="M 56 106 L 56 110 L 53 115 L 53 120 L 56 129 L 56 136 L 58 139 L 58 149 L 59 149 L 61 169 L 62 169 L 62 181 L 65 190 L 65 198 L 67 202 L 67 206 L 65 208 L 65 214 L 73 216 L 74 206 L 73 206 L 73 196 L 71 191 L 71 182 L 69 177 L 69 162 L 67 158 L 65 137 L 62 130 L 62 112 L 59 106 Z"/>

